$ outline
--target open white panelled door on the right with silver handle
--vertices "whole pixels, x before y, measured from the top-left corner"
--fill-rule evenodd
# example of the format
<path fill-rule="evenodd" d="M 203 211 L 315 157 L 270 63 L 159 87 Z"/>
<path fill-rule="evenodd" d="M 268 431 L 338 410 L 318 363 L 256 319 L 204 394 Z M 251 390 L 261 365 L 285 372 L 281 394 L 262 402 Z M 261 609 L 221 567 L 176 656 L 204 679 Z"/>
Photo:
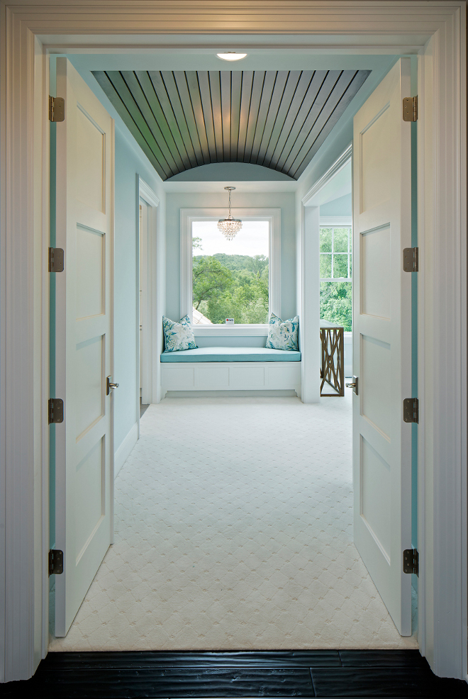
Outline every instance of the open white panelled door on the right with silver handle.
<path fill-rule="evenodd" d="M 355 544 L 400 634 L 411 634 L 411 96 L 402 58 L 354 120 L 353 471 Z"/>

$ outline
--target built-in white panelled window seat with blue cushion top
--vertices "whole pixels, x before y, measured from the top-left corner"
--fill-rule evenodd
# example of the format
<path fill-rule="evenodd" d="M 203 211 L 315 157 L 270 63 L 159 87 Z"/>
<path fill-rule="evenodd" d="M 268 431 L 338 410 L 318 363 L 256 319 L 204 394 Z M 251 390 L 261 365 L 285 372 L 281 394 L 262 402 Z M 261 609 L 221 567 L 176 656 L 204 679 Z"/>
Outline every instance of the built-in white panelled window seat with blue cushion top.
<path fill-rule="evenodd" d="M 161 354 L 167 391 L 284 391 L 301 396 L 301 352 L 264 347 L 198 347 Z"/>

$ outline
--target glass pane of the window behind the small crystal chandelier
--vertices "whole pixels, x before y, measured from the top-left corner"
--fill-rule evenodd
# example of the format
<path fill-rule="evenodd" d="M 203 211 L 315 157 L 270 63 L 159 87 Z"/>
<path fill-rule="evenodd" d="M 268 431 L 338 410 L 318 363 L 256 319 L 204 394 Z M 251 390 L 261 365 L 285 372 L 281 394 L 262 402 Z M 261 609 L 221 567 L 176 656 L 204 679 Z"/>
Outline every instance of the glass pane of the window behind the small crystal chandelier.
<path fill-rule="evenodd" d="M 192 222 L 192 306 L 197 325 L 268 322 L 269 221 L 243 221 L 226 240 L 216 220 Z"/>

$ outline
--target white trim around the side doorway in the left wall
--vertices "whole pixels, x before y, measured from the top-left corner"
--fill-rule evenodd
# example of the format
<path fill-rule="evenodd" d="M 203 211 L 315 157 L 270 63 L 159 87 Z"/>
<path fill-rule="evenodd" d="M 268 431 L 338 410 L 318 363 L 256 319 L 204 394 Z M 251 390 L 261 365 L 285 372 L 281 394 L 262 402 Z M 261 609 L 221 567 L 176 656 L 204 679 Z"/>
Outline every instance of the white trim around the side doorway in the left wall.
<path fill-rule="evenodd" d="M 143 230 L 143 235 L 147 235 L 147 240 L 143 242 L 143 249 L 147 254 L 147 264 L 145 265 L 146 272 L 146 331 L 143 330 L 143 386 L 144 393 L 150 395 L 150 403 L 160 402 L 159 386 L 160 382 L 160 345 L 161 323 L 153 323 L 155 312 L 158 306 L 159 299 L 157 298 L 158 284 L 158 265 L 160 264 L 160 235 L 157 225 L 157 207 L 160 206 L 160 198 L 156 196 L 149 184 L 144 179 L 138 177 L 138 206 L 140 199 L 143 199 L 148 207 L 147 230 Z M 138 236 L 138 240 L 140 237 Z M 138 260 L 140 259 L 140 251 L 138 250 Z M 141 270 L 137 274 L 137 286 L 140 282 Z M 140 289 L 137 289 L 137 298 L 140 298 Z M 140 318 L 140 308 L 138 308 L 137 318 Z M 138 434 L 140 433 L 140 331 L 137 325 L 137 422 Z M 146 359 L 145 359 L 146 357 Z M 158 390 L 155 391 L 156 381 Z"/>

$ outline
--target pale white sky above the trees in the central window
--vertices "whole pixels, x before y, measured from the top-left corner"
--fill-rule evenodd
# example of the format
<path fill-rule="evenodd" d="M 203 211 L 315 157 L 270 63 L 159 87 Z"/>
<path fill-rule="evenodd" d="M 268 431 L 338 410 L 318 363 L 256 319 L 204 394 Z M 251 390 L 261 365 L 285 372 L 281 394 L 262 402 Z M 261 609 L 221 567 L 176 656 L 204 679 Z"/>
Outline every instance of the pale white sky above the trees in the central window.
<path fill-rule="evenodd" d="M 196 255 L 264 255 L 268 257 L 268 221 L 243 221 L 242 228 L 233 240 L 226 240 L 216 227 L 217 221 L 193 221 L 191 232 L 194 237 L 201 237 L 201 249 L 194 250 Z"/>

